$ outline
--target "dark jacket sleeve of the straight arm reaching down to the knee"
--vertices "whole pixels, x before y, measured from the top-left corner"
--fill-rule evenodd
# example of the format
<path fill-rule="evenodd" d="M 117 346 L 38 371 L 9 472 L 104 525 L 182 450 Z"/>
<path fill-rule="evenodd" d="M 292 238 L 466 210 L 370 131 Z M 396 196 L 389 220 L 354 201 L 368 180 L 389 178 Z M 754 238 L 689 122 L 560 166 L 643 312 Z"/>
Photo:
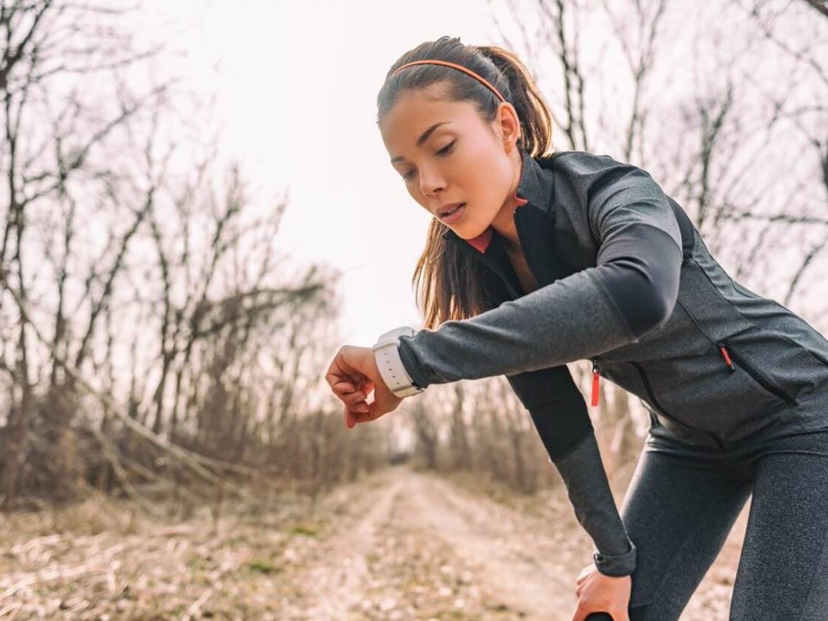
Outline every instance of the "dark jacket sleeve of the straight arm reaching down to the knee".
<path fill-rule="evenodd" d="M 569 368 L 562 364 L 506 378 L 561 474 L 575 517 L 592 538 L 596 568 L 605 575 L 632 574 L 636 547 L 621 522 L 584 397 Z"/>

